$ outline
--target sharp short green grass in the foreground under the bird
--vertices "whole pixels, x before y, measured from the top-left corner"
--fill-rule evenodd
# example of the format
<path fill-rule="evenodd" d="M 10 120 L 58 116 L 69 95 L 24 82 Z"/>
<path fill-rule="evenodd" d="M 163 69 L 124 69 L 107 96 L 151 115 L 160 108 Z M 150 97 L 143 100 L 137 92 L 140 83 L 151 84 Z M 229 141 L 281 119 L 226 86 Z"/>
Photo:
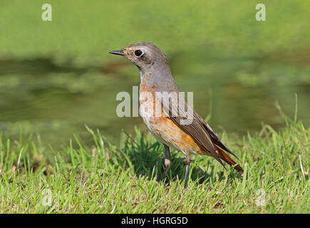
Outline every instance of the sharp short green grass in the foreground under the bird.
<path fill-rule="evenodd" d="M 185 192 L 182 155 L 172 152 L 161 182 L 163 148 L 138 129 L 135 138 L 121 133 L 118 147 L 88 128 L 93 147 L 74 135 L 60 151 L 43 147 L 40 138 L 1 137 L 0 212 L 309 213 L 310 129 L 282 115 L 286 128 L 279 132 L 263 125 L 244 138 L 221 135 L 242 160 L 243 175 L 195 157 Z"/>

